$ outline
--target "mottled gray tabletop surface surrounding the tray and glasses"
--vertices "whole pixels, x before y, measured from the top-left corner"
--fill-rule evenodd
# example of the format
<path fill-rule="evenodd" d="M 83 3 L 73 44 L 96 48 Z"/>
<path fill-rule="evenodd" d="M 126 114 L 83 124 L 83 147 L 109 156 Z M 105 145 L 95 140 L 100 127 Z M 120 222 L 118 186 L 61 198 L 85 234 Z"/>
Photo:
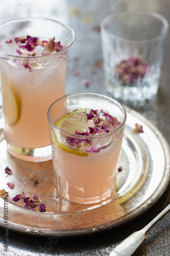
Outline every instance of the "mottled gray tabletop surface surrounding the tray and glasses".
<path fill-rule="evenodd" d="M 26 17 L 45 16 L 59 18 L 74 29 L 77 39 L 68 53 L 66 94 L 75 92 L 105 93 L 102 68 L 102 53 L 99 24 L 101 19 L 112 11 L 149 9 L 164 15 L 170 23 L 169 0 L 25 0 L 0 1 L 0 22 Z M 170 144 L 170 37 L 168 34 L 157 97 L 149 105 L 138 110 L 147 117 Z M 80 76 L 74 72 L 79 71 Z M 87 79 L 89 87 L 82 84 Z M 0 255 L 109 255 L 110 251 L 132 232 L 139 230 L 151 221 L 170 202 L 170 187 L 145 214 L 123 225 L 103 233 L 75 238 L 38 238 L 9 231 L 8 253 L 4 253 L 4 229 L 0 229 Z M 134 256 L 169 256 L 170 254 L 170 213 L 160 220 L 147 234 L 147 240 L 138 248 Z"/>

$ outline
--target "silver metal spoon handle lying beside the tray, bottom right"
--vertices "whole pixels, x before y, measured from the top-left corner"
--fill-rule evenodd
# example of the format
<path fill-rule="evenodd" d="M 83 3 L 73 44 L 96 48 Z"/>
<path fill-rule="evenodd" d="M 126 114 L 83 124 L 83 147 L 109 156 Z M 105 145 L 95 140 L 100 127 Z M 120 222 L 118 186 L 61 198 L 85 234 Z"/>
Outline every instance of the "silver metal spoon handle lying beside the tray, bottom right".
<path fill-rule="evenodd" d="M 145 234 L 148 230 L 159 221 L 170 210 L 170 204 L 160 212 L 147 226 L 139 231 L 132 233 L 128 238 L 117 245 L 109 256 L 130 256 L 146 239 Z"/>

